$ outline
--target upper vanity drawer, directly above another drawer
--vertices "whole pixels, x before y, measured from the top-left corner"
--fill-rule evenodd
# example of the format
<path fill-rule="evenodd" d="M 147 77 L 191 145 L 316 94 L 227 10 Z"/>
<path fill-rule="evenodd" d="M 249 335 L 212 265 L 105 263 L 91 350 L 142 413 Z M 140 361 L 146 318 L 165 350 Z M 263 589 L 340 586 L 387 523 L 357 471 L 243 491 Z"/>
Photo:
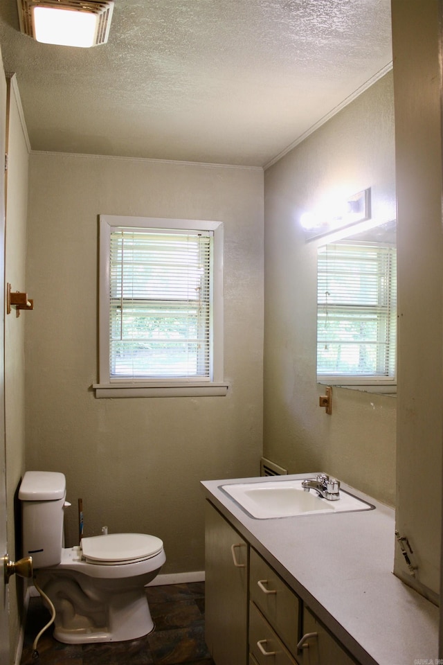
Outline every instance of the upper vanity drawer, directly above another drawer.
<path fill-rule="evenodd" d="M 278 574 L 251 548 L 249 596 L 274 626 L 289 651 L 297 655 L 300 601 Z"/>

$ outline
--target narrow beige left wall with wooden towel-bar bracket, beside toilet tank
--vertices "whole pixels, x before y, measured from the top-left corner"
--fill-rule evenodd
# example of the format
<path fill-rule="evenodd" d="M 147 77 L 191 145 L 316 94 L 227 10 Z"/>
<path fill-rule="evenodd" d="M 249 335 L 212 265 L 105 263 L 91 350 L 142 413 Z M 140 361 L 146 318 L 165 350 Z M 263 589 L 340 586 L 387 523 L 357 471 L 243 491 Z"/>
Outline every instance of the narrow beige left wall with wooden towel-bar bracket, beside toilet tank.
<path fill-rule="evenodd" d="M 28 193 L 28 145 L 19 114 L 19 95 L 9 85 L 8 172 L 6 200 L 6 281 L 13 291 L 26 291 L 26 215 Z M 17 105 L 18 101 L 18 105 Z M 15 493 L 25 468 L 24 333 L 32 312 L 16 317 L 15 309 L 5 320 L 5 424 L 6 490 L 8 496 L 8 553 L 21 556 L 15 547 L 17 505 Z M 17 645 L 23 608 L 23 580 L 12 576 L 9 583 L 11 662 Z"/>

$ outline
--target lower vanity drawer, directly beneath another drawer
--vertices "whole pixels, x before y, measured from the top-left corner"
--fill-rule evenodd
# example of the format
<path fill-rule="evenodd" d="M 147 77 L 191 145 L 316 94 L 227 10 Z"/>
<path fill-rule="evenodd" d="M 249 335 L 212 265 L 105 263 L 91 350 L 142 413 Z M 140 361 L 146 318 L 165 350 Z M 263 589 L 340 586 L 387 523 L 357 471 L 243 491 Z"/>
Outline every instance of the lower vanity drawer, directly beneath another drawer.
<path fill-rule="evenodd" d="M 254 603 L 249 603 L 249 655 L 257 665 L 298 665 Z"/>

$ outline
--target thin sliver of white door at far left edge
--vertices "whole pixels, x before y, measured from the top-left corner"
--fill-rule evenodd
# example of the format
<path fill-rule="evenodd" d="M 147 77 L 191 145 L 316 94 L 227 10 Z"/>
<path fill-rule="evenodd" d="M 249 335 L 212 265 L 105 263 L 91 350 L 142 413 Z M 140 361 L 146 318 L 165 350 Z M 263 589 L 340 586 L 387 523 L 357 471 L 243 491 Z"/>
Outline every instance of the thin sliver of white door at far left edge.
<path fill-rule="evenodd" d="M 6 456 L 5 456 L 5 131 L 6 81 L 0 59 L 0 558 L 6 555 Z M 0 561 L 1 563 L 1 561 Z M 0 663 L 9 662 L 8 587 L 0 565 Z"/>

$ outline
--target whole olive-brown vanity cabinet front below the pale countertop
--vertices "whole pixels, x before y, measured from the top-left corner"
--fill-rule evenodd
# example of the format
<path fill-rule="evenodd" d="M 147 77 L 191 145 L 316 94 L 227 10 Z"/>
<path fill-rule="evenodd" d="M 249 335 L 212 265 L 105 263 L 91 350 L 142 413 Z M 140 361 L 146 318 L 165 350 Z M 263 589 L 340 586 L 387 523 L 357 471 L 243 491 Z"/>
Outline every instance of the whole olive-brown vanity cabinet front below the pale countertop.
<path fill-rule="evenodd" d="M 213 504 L 205 511 L 205 637 L 215 665 L 358 665 Z"/>

